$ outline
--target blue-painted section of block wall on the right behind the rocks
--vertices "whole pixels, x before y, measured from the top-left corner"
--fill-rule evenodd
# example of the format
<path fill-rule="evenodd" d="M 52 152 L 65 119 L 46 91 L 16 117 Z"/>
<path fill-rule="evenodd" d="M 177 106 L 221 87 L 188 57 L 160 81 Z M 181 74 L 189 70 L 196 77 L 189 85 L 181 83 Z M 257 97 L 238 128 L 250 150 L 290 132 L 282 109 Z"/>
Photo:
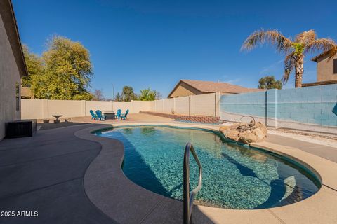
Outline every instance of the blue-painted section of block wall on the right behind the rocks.
<path fill-rule="evenodd" d="M 337 85 L 223 95 L 221 119 L 249 115 L 269 127 L 337 133 L 336 104 Z"/>

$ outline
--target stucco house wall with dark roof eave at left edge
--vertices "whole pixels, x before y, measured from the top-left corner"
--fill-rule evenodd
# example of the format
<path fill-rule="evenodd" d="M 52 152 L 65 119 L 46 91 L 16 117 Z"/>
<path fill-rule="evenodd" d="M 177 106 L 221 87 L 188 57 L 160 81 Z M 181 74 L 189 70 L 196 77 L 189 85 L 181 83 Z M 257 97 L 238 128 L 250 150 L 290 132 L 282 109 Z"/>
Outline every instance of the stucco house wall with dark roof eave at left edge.
<path fill-rule="evenodd" d="M 10 0 L 0 0 L 0 140 L 8 121 L 21 117 L 21 78 L 27 68 Z"/>

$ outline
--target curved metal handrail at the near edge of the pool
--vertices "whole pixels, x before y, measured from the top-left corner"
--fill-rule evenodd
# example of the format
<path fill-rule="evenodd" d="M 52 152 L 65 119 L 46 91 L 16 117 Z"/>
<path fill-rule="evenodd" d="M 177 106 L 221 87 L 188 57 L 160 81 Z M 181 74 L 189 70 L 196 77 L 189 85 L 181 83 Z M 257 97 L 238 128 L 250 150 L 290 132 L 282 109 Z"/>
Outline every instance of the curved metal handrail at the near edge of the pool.
<path fill-rule="evenodd" d="M 192 152 L 192 155 L 194 157 L 194 160 L 197 162 L 197 165 L 199 166 L 199 180 L 198 180 L 198 186 L 192 192 L 190 193 L 190 151 Z M 188 142 L 185 147 L 185 153 L 184 153 L 184 168 L 183 168 L 183 174 L 184 174 L 184 224 L 191 224 L 192 223 L 192 209 L 193 209 L 193 200 L 194 196 L 197 195 L 199 190 L 201 189 L 202 185 L 202 167 L 198 158 L 197 153 L 194 151 L 193 145 Z"/>

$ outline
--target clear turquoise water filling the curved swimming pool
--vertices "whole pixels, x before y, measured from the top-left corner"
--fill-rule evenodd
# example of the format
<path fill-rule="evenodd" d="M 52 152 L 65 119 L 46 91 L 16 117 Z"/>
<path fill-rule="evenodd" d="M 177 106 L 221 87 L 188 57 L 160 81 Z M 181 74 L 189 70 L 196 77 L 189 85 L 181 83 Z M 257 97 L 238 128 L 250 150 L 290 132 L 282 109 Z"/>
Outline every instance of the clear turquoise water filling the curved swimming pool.
<path fill-rule="evenodd" d="M 227 142 L 206 130 L 161 126 L 119 127 L 97 132 L 124 143 L 123 172 L 154 193 L 183 198 L 183 154 L 192 142 L 203 167 L 196 204 L 230 209 L 278 207 L 303 200 L 319 190 L 309 170 L 289 159 Z M 197 186 L 197 164 L 190 159 L 191 188 Z"/>

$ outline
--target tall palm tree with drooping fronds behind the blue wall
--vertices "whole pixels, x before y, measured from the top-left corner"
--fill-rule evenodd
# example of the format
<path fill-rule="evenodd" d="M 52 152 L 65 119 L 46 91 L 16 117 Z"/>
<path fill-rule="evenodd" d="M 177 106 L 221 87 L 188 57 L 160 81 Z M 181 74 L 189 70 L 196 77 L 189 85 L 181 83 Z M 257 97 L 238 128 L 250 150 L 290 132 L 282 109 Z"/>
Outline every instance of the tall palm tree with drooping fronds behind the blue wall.
<path fill-rule="evenodd" d="M 304 31 L 295 37 L 286 38 L 277 30 L 263 29 L 253 32 L 244 44 L 242 50 L 253 50 L 258 44 L 271 43 L 276 46 L 278 52 L 286 55 L 284 59 L 284 75 L 282 77 L 283 83 L 289 80 L 291 71 L 295 70 L 295 87 L 302 87 L 303 76 L 303 60 L 306 54 L 320 51 L 327 52 L 329 59 L 336 55 L 337 45 L 330 38 L 317 38 L 314 30 Z"/>

